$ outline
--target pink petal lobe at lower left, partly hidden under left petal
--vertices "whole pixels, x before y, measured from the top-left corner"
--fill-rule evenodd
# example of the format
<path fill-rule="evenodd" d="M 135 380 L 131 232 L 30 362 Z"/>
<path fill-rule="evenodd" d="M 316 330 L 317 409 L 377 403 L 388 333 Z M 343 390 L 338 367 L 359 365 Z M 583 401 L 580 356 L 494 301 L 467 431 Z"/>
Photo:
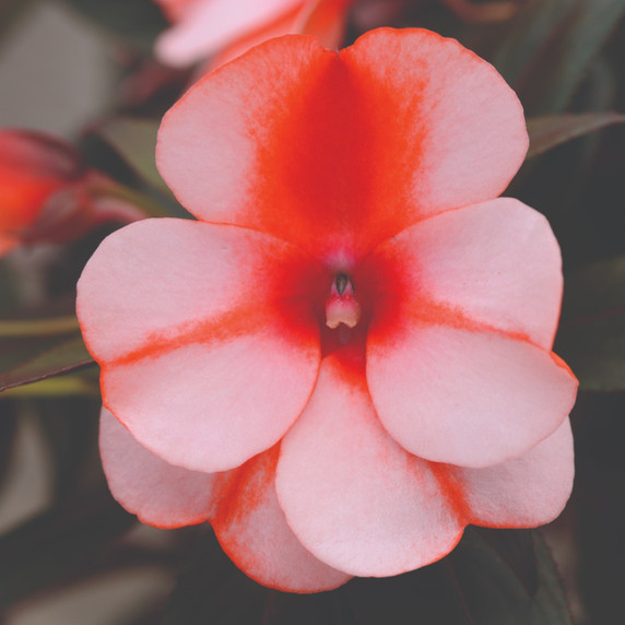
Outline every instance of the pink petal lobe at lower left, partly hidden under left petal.
<path fill-rule="evenodd" d="M 209 518 L 215 475 L 161 460 L 139 445 L 105 408 L 99 421 L 99 450 L 113 496 L 144 523 L 178 528 Z"/>

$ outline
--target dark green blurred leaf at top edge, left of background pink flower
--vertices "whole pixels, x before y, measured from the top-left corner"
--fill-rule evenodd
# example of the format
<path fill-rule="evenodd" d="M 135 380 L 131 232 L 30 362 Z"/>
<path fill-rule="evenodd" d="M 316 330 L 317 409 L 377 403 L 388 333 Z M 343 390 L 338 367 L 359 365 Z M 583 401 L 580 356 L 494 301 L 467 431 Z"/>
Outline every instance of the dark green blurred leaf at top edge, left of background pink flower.
<path fill-rule="evenodd" d="M 145 54 L 152 51 L 154 38 L 168 26 L 152 0 L 66 0 L 101 27 L 127 39 Z"/>

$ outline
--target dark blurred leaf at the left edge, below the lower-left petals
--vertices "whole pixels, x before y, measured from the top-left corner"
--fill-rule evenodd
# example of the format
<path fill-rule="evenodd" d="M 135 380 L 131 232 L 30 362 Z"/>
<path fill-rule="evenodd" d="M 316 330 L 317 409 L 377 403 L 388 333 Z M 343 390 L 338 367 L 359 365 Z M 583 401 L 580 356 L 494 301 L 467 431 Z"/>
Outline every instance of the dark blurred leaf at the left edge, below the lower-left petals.
<path fill-rule="evenodd" d="M 0 610 L 62 583 L 135 522 L 108 495 L 67 500 L 0 538 Z"/>

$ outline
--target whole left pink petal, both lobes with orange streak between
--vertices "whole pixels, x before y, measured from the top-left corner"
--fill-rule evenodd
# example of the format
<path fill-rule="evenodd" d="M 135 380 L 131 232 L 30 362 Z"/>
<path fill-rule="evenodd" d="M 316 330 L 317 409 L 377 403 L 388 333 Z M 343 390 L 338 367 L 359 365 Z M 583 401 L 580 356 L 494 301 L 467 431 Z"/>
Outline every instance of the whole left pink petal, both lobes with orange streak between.
<path fill-rule="evenodd" d="M 78 297 L 105 405 L 187 469 L 224 471 L 271 447 L 317 377 L 310 267 L 237 227 L 146 220 L 108 237 Z"/>

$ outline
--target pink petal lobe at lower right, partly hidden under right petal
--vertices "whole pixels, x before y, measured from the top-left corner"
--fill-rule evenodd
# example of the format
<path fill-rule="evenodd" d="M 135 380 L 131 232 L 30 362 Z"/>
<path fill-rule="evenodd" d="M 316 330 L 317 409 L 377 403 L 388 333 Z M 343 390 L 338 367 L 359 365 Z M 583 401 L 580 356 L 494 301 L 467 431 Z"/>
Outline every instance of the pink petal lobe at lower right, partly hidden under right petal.
<path fill-rule="evenodd" d="M 553 521 L 573 488 L 573 435 L 567 420 L 523 456 L 485 469 L 451 473 L 479 526 L 528 528 Z"/>

